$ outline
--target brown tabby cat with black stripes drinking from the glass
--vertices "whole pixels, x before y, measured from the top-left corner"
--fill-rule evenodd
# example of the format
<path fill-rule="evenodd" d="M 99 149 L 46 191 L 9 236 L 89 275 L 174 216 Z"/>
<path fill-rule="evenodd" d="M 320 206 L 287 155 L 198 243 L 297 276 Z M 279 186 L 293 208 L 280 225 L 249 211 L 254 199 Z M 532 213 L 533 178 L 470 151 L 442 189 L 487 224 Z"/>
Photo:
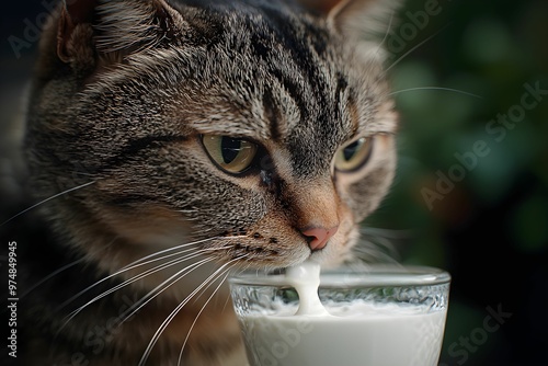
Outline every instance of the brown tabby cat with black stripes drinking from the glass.
<path fill-rule="evenodd" d="M 244 365 L 226 277 L 352 261 L 389 191 L 397 5 L 60 4 L 28 101 L 20 364 Z"/>

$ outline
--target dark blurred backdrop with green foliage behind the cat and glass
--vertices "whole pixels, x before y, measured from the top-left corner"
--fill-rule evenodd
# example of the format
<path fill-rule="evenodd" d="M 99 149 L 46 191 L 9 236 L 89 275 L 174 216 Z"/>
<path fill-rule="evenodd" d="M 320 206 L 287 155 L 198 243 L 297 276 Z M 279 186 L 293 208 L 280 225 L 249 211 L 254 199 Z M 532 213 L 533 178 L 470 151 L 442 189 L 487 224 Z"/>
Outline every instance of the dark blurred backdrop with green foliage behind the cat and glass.
<path fill-rule="evenodd" d="M 22 110 L 49 2 L 1 12 L 0 130 L 13 141 L 5 127 Z M 386 45 L 400 161 L 366 226 L 386 229 L 375 236 L 399 261 L 453 275 L 441 365 L 548 365 L 548 94 L 522 105 L 527 88 L 548 91 L 548 1 L 408 0 Z M 13 196 L 14 148 L 0 146 Z M 2 199 L 1 217 L 19 209 Z"/>

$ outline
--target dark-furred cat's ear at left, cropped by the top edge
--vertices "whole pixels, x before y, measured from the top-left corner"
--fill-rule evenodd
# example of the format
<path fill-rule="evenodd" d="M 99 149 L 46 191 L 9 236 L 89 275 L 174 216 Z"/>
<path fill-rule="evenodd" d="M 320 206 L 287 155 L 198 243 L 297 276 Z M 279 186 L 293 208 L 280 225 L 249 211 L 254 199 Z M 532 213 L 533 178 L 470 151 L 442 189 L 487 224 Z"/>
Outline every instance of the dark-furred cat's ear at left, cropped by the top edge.
<path fill-rule="evenodd" d="M 160 46 L 185 26 L 164 0 L 65 0 L 57 27 L 64 62 L 111 61 Z"/>

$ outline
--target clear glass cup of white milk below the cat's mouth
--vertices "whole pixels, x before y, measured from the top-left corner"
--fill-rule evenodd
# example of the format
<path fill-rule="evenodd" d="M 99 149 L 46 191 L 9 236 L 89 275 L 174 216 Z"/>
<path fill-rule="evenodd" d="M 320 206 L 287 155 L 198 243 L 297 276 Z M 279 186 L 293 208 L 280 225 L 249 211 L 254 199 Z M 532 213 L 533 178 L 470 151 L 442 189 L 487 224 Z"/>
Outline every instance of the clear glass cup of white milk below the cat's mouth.
<path fill-rule="evenodd" d="M 437 365 L 449 282 L 424 266 L 327 271 L 318 294 L 329 314 L 300 316 L 284 274 L 229 279 L 251 366 Z"/>

